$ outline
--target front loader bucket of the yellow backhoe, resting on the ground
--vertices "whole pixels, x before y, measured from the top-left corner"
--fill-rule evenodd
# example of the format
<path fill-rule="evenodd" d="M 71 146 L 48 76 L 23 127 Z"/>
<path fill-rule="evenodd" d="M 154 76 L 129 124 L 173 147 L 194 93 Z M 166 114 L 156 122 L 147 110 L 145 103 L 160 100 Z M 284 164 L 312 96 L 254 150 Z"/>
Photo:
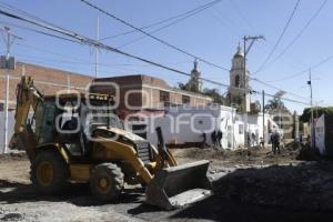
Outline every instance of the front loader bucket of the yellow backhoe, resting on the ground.
<path fill-rule="evenodd" d="M 172 210 L 211 195 L 209 164 L 202 160 L 160 170 L 147 186 L 145 202 Z"/>

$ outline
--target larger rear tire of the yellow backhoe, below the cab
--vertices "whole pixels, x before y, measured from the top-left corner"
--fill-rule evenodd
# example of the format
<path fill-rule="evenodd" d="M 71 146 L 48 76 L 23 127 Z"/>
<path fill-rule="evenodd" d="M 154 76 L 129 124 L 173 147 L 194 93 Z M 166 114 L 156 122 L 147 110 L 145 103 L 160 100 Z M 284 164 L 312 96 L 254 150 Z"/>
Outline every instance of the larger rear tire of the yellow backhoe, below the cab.
<path fill-rule="evenodd" d="M 68 164 L 54 150 L 41 151 L 31 163 L 30 179 L 37 191 L 57 194 L 68 188 Z"/>

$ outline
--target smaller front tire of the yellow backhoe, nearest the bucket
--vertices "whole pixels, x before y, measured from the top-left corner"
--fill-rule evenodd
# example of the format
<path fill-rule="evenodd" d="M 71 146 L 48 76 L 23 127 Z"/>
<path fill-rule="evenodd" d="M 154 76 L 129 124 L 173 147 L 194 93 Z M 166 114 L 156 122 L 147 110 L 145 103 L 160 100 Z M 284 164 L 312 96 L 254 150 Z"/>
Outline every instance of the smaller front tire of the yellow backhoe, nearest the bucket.
<path fill-rule="evenodd" d="M 123 186 L 123 173 L 117 164 L 101 163 L 92 169 L 90 188 L 97 199 L 114 201 L 121 195 Z"/>

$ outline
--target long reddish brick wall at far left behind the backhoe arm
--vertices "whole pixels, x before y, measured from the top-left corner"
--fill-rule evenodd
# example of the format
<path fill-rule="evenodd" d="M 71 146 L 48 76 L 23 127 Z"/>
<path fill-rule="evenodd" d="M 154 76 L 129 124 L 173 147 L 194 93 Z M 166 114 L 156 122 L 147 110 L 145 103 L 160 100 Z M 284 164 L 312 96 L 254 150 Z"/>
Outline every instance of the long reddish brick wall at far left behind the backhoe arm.
<path fill-rule="evenodd" d="M 0 70 L 0 111 L 3 110 L 4 100 L 6 100 L 6 72 L 7 70 Z M 11 70 L 9 80 L 9 108 L 14 108 L 16 104 L 16 88 L 18 82 L 20 81 L 21 75 L 30 75 L 34 79 L 36 87 L 43 94 L 54 94 L 59 90 L 65 89 L 74 89 L 79 91 L 83 91 L 88 83 L 92 81 L 93 78 L 40 67 L 36 64 L 28 64 L 18 62 L 16 70 Z"/>

